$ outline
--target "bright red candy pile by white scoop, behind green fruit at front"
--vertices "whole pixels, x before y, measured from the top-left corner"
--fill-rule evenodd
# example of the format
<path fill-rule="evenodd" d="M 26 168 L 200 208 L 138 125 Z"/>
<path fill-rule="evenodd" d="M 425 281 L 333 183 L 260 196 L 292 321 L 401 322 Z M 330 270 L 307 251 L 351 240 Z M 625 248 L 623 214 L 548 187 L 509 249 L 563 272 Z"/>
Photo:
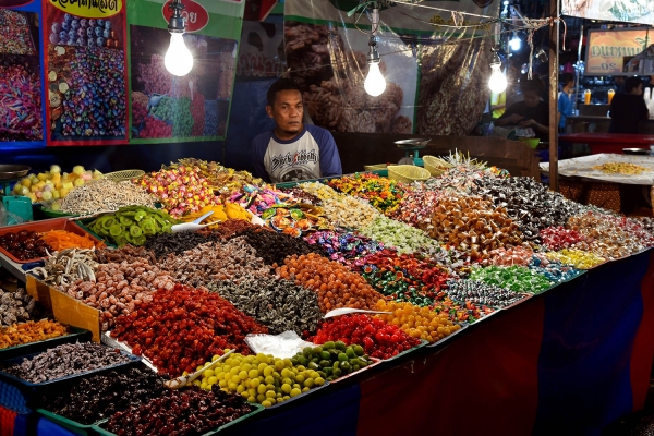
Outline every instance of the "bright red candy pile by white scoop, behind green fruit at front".
<path fill-rule="evenodd" d="M 318 344 L 337 340 L 363 346 L 366 354 L 377 359 L 390 359 L 421 343 L 398 326 L 367 315 L 344 315 L 325 322 L 313 338 Z"/>

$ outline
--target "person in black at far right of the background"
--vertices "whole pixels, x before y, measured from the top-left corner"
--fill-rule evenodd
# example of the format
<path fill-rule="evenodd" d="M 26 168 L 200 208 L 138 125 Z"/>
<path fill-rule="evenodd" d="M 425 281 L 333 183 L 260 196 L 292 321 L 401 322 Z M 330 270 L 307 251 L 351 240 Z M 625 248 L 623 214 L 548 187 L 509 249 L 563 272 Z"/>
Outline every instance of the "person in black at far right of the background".
<path fill-rule="evenodd" d="M 625 93 L 616 94 L 610 102 L 608 133 L 638 133 L 638 123 L 650 117 L 643 98 L 643 81 L 633 76 L 625 82 Z"/>

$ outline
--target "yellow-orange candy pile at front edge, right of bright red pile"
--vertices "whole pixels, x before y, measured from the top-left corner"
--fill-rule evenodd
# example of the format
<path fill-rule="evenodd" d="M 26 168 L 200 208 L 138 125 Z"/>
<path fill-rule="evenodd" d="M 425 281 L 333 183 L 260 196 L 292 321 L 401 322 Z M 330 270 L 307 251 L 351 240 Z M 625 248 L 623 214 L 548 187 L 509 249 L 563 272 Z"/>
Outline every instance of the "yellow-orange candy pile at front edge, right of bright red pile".
<path fill-rule="evenodd" d="M 447 313 L 437 314 L 429 307 L 419 307 L 411 303 L 379 300 L 377 311 L 392 312 L 392 315 L 376 315 L 382 320 L 400 327 L 409 336 L 436 342 L 461 329 L 461 326 L 448 319 Z"/>

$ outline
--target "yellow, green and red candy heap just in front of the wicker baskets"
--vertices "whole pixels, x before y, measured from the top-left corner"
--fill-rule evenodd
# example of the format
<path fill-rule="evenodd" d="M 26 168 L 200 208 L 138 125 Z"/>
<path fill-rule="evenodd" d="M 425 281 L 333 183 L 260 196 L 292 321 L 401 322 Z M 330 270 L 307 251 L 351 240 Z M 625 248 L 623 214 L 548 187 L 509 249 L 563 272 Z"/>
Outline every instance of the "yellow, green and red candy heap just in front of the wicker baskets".
<path fill-rule="evenodd" d="M 395 211 L 404 193 L 403 186 L 395 180 L 371 173 L 332 179 L 327 184 L 342 193 L 367 199 L 384 214 Z"/>

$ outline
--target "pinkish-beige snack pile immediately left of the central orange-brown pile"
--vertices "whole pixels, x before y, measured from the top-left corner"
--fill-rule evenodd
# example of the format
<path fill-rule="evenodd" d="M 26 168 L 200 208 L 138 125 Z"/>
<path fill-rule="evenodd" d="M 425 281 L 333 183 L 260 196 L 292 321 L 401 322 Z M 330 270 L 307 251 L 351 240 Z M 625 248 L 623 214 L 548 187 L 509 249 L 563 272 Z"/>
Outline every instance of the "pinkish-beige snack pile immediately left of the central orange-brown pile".
<path fill-rule="evenodd" d="M 270 267 L 257 257 L 244 238 L 226 243 L 207 242 L 180 256 L 169 254 L 158 263 L 159 268 L 181 284 L 207 286 L 218 280 L 239 281 L 246 277 L 270 277 Z"/>

